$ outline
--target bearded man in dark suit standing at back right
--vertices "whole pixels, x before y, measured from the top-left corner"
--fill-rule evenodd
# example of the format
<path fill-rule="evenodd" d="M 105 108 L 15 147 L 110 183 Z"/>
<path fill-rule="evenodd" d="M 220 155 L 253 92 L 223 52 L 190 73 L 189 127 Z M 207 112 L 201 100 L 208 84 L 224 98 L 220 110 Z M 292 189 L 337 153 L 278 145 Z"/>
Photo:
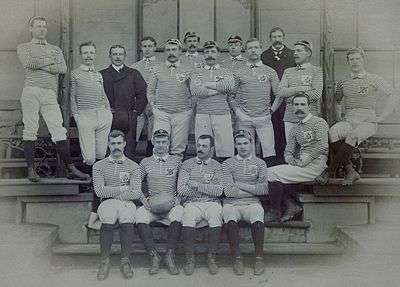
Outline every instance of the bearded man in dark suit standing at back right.
<path fill-rule="evenodd" d="M 285 32 L 280 27 L 275 27 L 269 32 L 269 39 L 271 46 L 261 54 L 261 61 L 264 65 L 270 66 L 278 75 L 279 80 L 282 79 L 283 72 L 285 69 L 295 67 L 294 51 L 289 49 L 285 44 Z M 275 100 L 277 95 L 272 94 L 271 104 Z M 272 114 L 272 125 L 274 127 L 275 135 L 275 152 L 276 160 L 274 164 L 283 164 L 284 151 L 286 146 L 285 139 L 285 125 L 283 123 L 283 116 L 285 114 L 286 105 L 282 104 Z"/>

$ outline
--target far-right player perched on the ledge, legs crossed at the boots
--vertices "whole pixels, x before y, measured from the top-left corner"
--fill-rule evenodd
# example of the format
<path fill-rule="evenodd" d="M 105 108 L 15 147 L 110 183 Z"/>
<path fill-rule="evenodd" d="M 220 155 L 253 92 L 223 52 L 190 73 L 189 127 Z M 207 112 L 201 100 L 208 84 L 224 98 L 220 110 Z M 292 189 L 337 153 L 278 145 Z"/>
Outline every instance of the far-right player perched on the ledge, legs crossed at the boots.
<path fill-rule="evenodd" d="M 361 48 L 347 51 L 347 62 L 351 76 L 336 86 L 335 98 L 338 103 L 344 99 L 344 119 L 331 127 L 331 163 L 316 180 L 326 184 L 334 177 L 340 166 L 345 167 L 346 177 L 343 185 L 351 185 L 360 178 L 350 162 L 354 147 L 373 136 L 378 130 L 377 123 L 382 122 L 396 106 L 393 89 L 378 75 L 365 71 L 365 53 Z M 379 117 L 376 115 L 376 103 L 382 96 L 389 97 Z"/>

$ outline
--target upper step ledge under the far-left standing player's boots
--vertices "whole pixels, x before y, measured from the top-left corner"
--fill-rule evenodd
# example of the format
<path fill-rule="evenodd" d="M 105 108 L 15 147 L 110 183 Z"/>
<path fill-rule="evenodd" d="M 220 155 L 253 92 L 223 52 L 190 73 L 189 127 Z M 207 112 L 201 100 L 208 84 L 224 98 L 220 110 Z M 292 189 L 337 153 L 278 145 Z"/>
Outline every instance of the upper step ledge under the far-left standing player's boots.
<path fill-rule="evenodd" d="M 0 179 L 0 197 L 73 195 L 79 193 L 80 184 L 89 182 L 66 178 L 41 178 L 39 182 L 31 182 L 26 178 Z"/>

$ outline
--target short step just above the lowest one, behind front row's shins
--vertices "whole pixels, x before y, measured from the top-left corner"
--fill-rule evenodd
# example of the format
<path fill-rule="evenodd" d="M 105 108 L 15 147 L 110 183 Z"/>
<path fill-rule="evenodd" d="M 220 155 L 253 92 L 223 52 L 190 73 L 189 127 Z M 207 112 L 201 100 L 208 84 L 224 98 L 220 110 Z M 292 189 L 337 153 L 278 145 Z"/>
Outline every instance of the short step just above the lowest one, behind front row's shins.
<path fill-rule="evenodd" d="M 307 230 L 310 228 L 309 222 L 293 221 L 284 223 L 266 223 L 265 224 L 265 242 L 292 242 L 305 243 L 307 240 Z M 154 241 L 158 243 L 166 243 L 168 236 L 167 226 L 155 224 L 152 226 Z M 196 242 L 207 242 L 208 228 L 199 228 L 196 230 Z M 99 243 L 100 231 L 88 229 L 88 243 Z M 225 228 L 222 229 L 221 242 L 227 242 Z M 246 224 L 240 224 L 240 240 L 241 242 L 252 242 L 250 227 Z M 114 242 L 119 242 L 119 229 L 114 232 Z M 138 233 L 134 233 L 133 242 L 142 242 Z"/>

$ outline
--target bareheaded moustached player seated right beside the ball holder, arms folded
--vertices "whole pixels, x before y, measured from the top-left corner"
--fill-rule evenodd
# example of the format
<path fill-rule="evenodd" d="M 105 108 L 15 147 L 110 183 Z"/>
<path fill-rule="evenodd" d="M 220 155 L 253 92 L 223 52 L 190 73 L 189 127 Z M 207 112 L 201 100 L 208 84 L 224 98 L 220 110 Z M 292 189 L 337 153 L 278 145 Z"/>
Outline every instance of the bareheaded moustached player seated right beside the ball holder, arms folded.
<path fill-rule="evenodd" d="M 218 273 L 215 261 L 222 226 L 222 206 L 218 197 L 222 195 L 221 164 L 212 159 L 214 138 L 201 135 L 197 140 L 197 157 L 183 162 L 178 177 L 178 194 L 184 202 L 182 234 L 185 245 L 186 275 L 194 272 L 194 231 L 196 224 L 205 220 L 208 233 L 208 270 Z"/>

